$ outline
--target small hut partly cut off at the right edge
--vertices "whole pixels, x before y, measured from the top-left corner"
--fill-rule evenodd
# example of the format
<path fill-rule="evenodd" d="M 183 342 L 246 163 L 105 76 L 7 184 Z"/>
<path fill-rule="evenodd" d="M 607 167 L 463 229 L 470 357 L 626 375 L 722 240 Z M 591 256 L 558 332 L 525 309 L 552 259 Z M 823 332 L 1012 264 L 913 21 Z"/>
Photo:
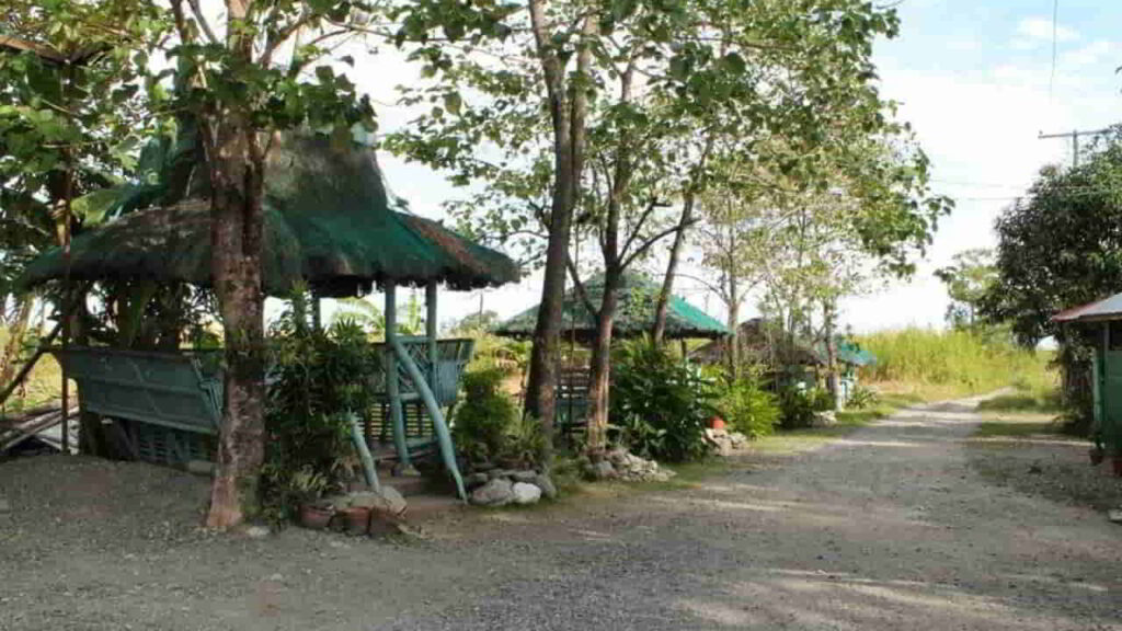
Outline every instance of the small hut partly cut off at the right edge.
<path fill-rule="evenodd" d="M 1092 362 L 1092 439 L 1122 475 L 1122 293 L 1060 311 L 1052 321 L 1089 333 Z"/>

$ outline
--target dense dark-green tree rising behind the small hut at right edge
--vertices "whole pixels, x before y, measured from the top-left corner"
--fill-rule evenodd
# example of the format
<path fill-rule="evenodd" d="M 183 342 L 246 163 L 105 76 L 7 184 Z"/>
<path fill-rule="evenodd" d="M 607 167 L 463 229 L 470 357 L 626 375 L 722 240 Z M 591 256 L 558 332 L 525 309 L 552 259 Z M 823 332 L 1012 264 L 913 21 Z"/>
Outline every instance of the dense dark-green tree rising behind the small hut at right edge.
<path fill-rule="evenodd" d="M 1079 166 L 1045 167 L 1027 198 L 997 219 L 997 277 L 980 313 L 1009 322 L 1026 347 L 1061 335 L 1056 312 L 1122 287 L 1120 140 L 1115 129 Z"/>

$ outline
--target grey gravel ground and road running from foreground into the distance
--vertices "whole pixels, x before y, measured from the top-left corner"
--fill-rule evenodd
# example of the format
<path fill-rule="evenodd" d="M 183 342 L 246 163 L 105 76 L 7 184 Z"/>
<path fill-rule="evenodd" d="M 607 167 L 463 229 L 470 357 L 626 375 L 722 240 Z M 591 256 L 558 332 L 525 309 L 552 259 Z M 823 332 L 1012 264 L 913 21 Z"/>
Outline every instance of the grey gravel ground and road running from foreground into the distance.
<path fill-rule="evenodd" d="M 1122 527 L 975 470 L 971 410 L 695 488 L 443 516 L 406 543 L 212 536 L 200 478 L 3 463 L 0 629 L 1122 630 Z"/>

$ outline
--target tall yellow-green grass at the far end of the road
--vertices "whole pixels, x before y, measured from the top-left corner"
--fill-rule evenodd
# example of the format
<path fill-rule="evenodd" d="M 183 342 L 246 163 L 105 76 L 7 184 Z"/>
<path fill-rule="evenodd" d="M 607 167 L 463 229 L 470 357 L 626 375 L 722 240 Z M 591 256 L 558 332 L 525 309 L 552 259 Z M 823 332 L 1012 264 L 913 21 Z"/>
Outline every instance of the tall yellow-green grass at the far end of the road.
<path fill-rule="evenodd" d="M 1050 351 L 1028 351 L 1001 336 L 909 328 L 859 336 L 876 364 L 863 369 L 865 383 L 885 392 L 947 399 L 1004 386 L 1051 387 Z"/>

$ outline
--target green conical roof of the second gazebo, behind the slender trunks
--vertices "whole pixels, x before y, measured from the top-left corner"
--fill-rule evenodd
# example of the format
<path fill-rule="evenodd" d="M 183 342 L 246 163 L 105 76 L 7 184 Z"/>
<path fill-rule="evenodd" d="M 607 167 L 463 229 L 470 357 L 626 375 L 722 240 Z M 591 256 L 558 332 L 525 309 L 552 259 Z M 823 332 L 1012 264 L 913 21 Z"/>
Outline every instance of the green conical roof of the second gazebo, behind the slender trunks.
<path fill-rule="evenodd" d="M 623 286 L 619 289 L 619 303 L 611 327 L 614 337 L 638 337 L 651 332 L 654 328 L 654 311 L 662 287 L 637 272 L 623 274 Z M 604 275 L 597 275 L 585 283 L 585 291 L 592 305 L 599 308 L 604 296 Z M 562 335 L 576 335 L 581 340 L 596 336 L 596 318 L 577 295 L 576 289 L 570 289 L 564 295 L 564 317 L 562 318 Z M 533 307 L 514 318 L 503 322 L 495 333 L 505 337 L 526 338 L 534 333 L 537 323 L 537 307 Z M 718 320 L 686 302 L 678 296 L 671 296 L 666 305 L 665 336 L 671 339 L 683 338 L 718 338 L 728 335 Z"/>

